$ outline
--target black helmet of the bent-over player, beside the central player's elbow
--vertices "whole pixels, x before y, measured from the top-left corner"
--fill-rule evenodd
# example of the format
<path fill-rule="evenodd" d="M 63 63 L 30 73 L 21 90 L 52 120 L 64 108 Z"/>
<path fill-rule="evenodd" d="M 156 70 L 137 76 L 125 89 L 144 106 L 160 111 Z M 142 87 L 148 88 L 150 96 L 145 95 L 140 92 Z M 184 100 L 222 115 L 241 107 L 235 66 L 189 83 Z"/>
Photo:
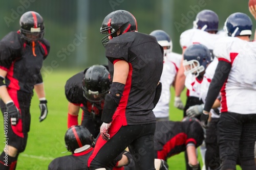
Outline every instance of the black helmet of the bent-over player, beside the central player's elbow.
<path fill-rule="evenodd" d="M 83 73 L 83 96 L 90 102 L 100 102 L 105 99 L 111 84 L 108 69 L 103 65 L 93 65 Z"/>

